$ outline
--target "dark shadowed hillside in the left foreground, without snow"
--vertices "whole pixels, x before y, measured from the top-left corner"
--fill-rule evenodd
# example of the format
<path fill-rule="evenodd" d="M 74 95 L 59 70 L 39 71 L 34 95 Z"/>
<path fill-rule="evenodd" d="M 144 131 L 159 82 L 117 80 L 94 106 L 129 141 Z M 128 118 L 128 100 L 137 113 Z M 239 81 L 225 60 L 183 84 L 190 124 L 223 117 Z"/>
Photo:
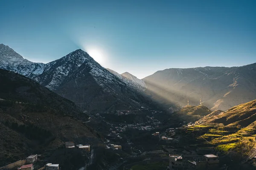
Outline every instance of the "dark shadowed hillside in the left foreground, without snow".
<path fill-rule="evenodd" d="M 73 102 L 12 71 L 0 69 L 0 82 L 0 167 L 31 153 L 47 158 L 62 141 L 100 142 Z"/>

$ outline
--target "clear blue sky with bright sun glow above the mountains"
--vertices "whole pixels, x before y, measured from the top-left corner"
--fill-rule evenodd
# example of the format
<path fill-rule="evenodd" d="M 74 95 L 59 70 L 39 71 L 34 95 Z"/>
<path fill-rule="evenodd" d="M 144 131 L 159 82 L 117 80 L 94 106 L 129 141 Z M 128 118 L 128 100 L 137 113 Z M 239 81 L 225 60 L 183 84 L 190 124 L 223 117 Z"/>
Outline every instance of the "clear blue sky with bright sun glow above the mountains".
<path fill-rule="evenodd" d="M 1 0 L 0 43 L 44 63 L 81 48 L 138 78 L 247 65 L 256 62 L 256 0 Z"/>

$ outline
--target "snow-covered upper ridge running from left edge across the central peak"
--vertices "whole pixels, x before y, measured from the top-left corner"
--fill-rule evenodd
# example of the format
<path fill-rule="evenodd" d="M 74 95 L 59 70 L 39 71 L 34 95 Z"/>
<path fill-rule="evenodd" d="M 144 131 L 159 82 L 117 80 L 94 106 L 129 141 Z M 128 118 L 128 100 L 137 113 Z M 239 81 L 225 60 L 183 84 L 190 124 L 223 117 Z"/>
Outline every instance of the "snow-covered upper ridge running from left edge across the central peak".
<path fill-rule="evenodd" d="M 106 87 L 106 83 L 113 84 L 116 77 L 120 79 L 118 74 L 109 74 L 109 71 L 81 49 L 44 64 L 24 59 L 9 46 L 0 44 L 0 68 L 34 79 L 51 90 L 56 90 L 68 77 L 79 74 L 79 69 L 82 71 L 83 68 L 90 68 L 90 74 L 106 91 L 115 91 L 111 87 Z M 51 74 L 43 74 L 44 72 Z M 145 87 L 142 83 L 137 85 L 136 83 L 139 81 L 132 82 L 125 77 L 120 80 L 122 85 L 128 85 L 136 90 L 142 90 L 142 87 Z"/>

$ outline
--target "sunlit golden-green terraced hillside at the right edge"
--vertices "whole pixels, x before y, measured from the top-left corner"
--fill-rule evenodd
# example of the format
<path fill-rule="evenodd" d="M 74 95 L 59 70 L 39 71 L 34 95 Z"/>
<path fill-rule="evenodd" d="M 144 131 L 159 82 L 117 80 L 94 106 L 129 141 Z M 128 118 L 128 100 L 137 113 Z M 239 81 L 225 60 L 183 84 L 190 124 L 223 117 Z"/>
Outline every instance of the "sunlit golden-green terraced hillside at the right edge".
<path fill-rule="evenodd" d="M 212 112 L 196 123 L 197 126 L 189 127 L 187 133 L 199 136 L 202 142 L 217 145 L 219 151 L 227 153 L 238 142 L 251 143 L 252 147 L 248 151 L 254 151 L 251 149 L 256 136 L 256 100 L 234 106 L 225 112 Z M 255 153 L 250 154 L 251 158 L 255 156 Z"/>

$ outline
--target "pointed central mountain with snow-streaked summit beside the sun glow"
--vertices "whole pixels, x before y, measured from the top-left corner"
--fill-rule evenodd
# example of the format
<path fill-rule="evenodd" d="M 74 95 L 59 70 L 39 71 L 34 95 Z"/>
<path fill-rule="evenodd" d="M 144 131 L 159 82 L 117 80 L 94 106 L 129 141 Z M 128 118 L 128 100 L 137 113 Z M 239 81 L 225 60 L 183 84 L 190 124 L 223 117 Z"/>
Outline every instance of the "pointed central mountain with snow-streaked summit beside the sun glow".
<path fill-rule="evenodd" d="M 48 63 L 35 80 L 86 111 L 136 110 L 149 102 L 81 49 Z"/>

